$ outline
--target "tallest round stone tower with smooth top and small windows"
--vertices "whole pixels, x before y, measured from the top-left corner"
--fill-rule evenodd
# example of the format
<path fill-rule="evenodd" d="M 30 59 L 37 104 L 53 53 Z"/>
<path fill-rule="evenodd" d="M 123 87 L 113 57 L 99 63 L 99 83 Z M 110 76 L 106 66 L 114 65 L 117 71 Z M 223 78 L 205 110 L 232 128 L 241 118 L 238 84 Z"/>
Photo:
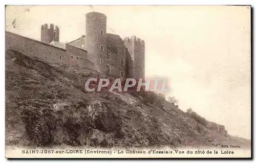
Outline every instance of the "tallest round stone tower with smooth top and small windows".
<path fill-rule="evenodd" d="M 86 14 L 86 50 L 94 62 L 95 70 L 105 74 L 106 68 L 106 15 L 98 12 Z"/>

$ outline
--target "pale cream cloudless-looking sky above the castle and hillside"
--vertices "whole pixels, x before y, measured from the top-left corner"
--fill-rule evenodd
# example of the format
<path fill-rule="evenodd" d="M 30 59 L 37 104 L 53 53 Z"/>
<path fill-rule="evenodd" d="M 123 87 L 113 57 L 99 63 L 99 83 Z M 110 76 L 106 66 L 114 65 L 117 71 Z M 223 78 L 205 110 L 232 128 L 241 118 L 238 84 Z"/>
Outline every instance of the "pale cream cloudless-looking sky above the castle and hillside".
<path fill-rule="evenodd" d="M 69 42 L 86 34 L 85 14 L 92 11 L 108 17 L 108 33 L 145 40 L 146 77 L 168 78 L 180 109 L 191 107 L 229 134 L 250 138 L 249 8 L 9 6 L 6 30 L 39 40 L 40 26 L 53 23 L 60 41 Z"/>

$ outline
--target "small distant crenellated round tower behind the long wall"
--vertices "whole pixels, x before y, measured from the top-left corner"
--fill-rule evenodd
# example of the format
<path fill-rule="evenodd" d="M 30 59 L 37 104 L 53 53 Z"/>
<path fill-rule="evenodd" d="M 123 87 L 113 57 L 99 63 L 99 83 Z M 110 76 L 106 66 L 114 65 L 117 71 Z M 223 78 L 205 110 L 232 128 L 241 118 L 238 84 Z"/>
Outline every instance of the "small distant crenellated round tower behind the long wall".
<path fill-rule="evenodd" d="M 59 42 L 58 26 L 54 27 L 53 24 L 50 24 L 50 27 L 48 27 L 48 24 L 42 25 L 41 26 L 41 42 L 51 43 L 52 41 Z"/>

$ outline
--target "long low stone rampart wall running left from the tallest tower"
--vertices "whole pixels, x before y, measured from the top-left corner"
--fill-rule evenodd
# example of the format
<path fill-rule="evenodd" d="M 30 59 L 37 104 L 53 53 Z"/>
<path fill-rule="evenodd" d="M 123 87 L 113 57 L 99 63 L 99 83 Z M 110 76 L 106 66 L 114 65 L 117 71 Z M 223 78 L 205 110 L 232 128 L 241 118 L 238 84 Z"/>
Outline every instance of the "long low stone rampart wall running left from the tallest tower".
<path fill-rule="evenodd" d="M 62 49 L 7 31 L 5 35 L 6 50 L 14 49 L 29 57 L 38 58 L 50 64 L 67 64 L 94 69 L 94 63 L 86 58 L 87 51 L 82 49 L 71 45 L 66 45 L 67 49 Z"/>

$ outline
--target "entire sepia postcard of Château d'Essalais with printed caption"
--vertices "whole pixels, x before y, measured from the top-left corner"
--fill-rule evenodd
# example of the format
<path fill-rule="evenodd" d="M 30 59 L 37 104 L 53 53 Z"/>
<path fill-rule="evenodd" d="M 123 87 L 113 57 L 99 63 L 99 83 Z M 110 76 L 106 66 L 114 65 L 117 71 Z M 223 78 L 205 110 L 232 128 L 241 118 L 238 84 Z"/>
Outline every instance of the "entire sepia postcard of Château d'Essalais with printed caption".
<path fill-rule="evenodd" d="M 7 158 L 251 158 L 251 6 L 5 6 Z"/>

